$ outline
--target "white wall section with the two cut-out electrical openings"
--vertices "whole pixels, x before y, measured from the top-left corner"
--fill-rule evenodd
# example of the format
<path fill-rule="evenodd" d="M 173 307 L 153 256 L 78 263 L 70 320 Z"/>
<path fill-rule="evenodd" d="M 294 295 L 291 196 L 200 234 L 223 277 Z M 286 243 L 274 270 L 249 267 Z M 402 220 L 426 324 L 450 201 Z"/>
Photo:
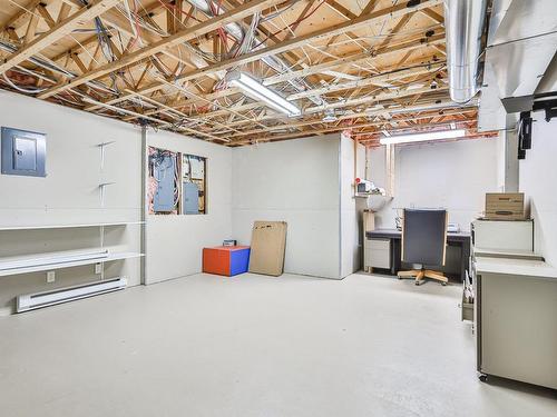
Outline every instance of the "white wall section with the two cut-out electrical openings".
<path fill-rule="evenodd" d="M 207 158 L 207 214 L 147 217 L 146 284 L 202 271 L 204 247 L 232 237 L 232 149 L 180 135 L 149 131 L 147 145 Z"/>

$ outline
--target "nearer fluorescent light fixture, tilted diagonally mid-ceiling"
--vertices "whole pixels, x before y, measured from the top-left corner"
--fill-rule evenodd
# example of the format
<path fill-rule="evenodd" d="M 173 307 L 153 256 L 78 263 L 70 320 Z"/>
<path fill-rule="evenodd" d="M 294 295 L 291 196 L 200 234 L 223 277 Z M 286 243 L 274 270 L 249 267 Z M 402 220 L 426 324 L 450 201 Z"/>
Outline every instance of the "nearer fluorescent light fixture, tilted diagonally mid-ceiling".
<path fill-rule="evenodd" d="M 227 72 L 226 82 L 228 82 L 228 85 L 231 86 L 240 88 L 246 96 L 251 97 L 252 99 L 263 101 L 268 107 L 277 111 L 281 111 L 289 116 L 302 115 L 302 111 L 296 106 L 244 72 Z"/>

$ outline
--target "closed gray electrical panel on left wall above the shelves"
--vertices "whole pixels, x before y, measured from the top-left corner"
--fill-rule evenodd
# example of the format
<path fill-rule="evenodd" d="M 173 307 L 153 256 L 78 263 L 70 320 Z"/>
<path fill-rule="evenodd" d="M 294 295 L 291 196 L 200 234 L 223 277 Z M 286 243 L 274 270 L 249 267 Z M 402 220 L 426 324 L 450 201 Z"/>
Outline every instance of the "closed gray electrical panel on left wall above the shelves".
<path fill-rule="evenodd" d="M 2 173 L 46 177 L 45 133 L 2 127 Z"/>

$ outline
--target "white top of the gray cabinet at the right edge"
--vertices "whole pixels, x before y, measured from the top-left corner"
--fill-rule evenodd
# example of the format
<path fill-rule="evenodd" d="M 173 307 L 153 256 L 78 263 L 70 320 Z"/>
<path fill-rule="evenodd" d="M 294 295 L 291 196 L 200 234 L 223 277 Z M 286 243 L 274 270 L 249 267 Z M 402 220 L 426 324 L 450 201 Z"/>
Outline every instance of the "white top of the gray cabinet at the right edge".
<path fill-rule="evenodd" d="M 541 260 L 510 258 L 477 258 L 477 274 L 519 275 L 525 278 L 557 279 L 557 269 Z"/>

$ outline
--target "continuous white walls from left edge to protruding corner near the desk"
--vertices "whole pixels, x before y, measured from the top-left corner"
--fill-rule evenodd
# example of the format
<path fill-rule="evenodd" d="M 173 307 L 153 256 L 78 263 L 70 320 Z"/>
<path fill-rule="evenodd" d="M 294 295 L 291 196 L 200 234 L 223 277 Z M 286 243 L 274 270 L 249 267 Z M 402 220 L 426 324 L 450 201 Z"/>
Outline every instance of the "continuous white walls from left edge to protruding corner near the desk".
<path fill-rule="evenodd" d="M 0 125 L 48 136 L 47 178 L 0 176 L 2 196 L 8 196 L 0 201 L 0 226 L 140 220 L 140 129 L 7 92 L 0 95 Z M 98 143 L 113 140 L 100 171 Z M 223 239 L 248 245 L 253 221 L 260 219 L 289 222 L 287 272 L 338 279 L 358 269 L 361 241 L 352 198 L 351 140 L 341 142 L 340 135 L 331 135 L 229 149 L 149 131 L 147 145 L 207 158 L 208 214 L 148 216 L 146 284 L 199 272 L 202 248 Z M 360 176 L 364 158 L 361 148 Z M 106 189 L 100 207 L 98 185 L 106 181 L 116 183 Z M 0 256 L 90 248 L 99 241 L 98 229 L 2 232 Z M 108 228 L 105 245 L 139 251 L 140 227 Z M 106 269 L 107 277 L 121 275 L 130 285 L 139 284 L 139 261 L 115 262 Z M 95 278 L 92 267 L 60 270 L 51 285 L 45 274 L 1 278 L 0 309 L 11 309 L 19 294 Z"/>

